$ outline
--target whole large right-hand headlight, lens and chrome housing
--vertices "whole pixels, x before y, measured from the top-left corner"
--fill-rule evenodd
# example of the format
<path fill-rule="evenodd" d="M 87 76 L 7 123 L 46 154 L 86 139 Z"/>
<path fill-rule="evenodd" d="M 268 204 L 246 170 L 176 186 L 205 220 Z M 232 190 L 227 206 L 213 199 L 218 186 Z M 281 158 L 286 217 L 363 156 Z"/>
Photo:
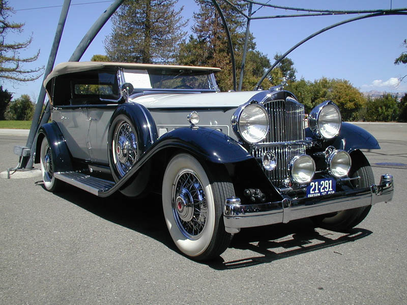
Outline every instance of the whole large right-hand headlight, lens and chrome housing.
<path fill-rule="evenodd" d="M 339 134 L 342 118 L 338 106 L 331 101 L 319 104 L 308 116 L 308 126 L 317 137 L 332 139 Z"/>

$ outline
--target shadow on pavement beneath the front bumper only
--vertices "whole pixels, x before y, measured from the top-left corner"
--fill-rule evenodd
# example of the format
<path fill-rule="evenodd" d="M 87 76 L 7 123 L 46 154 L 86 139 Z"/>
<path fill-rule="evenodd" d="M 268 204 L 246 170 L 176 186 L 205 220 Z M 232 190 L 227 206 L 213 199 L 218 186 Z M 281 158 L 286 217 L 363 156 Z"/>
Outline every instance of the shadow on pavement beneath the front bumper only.
<path fill-rule="evenodd" d="M 354 228 L 347 233 L 333 232 L 315 228 L 311 220 L 302 219 L 288 224 L 242 229 L 234 236 L 230 248 L 249 252 L 250 256 L 231 261 L 223 259 L 213 261 L 210 266 L 215 269 L 236 269 L 334 247 L 341 243 L 355 241 L 372 232 Z M 336 255 L 343 255 L 332 250 Z"/>

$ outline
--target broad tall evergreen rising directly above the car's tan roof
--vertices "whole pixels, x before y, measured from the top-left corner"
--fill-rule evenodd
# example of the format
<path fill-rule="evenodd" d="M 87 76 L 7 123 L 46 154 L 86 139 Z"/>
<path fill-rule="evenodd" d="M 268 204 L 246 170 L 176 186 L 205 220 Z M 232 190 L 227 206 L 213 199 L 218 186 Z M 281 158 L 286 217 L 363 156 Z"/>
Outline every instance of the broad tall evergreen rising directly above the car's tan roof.
<path fill-rule="evenodd" d="M 177 0 L 125 1 L 112 16 L 112 32 L 104 41 L 112 62 L 173 62 L 185 37 Z"/>

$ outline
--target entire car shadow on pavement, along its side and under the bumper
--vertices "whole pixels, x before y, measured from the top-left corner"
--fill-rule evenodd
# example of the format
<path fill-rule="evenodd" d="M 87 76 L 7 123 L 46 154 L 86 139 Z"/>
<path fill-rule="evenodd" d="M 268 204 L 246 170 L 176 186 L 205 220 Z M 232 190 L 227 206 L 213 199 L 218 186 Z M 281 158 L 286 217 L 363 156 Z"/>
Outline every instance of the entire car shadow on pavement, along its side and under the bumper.
<path fill-rule="evenodd" d="M 42 181 L 36 184 L 43 187 Z M 172 242 L 165 225 L 160 195 L 150 194 L 142 199 L 132 199 L 117 192 L 110 197 L 99 198 L 69 185 L 65 191 L 54 194 L 109 222 L 150 236 L 182 255 Z M 315 228 L 309 219 L 246 228 L 234 236 L 229 249 L 226 250 L 239 250 L 238 255 L 243 254 L 245 258 L 225 261 L 220 256 L 212 261 L 199 263 L 216 270 L 249 267 L 333 247 L 366 237 L 371 233 L 369 230 L 359 228 L 349 233 L 332 232 Z"/>

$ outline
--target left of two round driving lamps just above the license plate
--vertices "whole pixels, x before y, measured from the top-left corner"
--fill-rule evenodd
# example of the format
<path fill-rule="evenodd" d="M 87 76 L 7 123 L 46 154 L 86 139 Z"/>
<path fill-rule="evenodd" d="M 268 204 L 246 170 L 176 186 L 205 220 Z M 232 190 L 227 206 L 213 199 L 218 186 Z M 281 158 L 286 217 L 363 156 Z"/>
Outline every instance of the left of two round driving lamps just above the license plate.
<path fill-rule="evenodd" d="M 315 174 L 315 162 L 308 155 L 299 155 L 288 164 L 288 172 L 293 182 L 306 184 Z"/>

